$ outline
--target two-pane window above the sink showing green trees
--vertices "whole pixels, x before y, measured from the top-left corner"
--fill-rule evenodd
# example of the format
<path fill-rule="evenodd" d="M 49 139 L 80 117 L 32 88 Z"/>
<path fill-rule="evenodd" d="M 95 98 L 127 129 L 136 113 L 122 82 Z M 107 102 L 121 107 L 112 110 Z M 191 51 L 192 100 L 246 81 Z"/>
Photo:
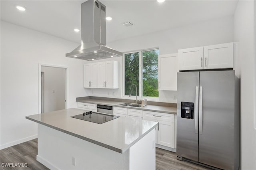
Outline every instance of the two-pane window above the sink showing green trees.
<path fill-rule="evenodd" d="M 158 97 L 158 49 L 124 54 L 124 95 Z M 131 90 L 130 90 L 131 88 Z"/>

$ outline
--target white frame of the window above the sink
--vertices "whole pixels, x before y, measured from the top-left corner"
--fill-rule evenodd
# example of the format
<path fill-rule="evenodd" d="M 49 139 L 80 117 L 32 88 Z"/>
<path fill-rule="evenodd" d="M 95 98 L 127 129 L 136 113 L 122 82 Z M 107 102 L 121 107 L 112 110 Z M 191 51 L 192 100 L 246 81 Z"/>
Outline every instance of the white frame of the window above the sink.
<path fill-rule="evenodd" d="M 123 69 L 122 69 L 122 96 L 124 98 L 127 98 L 127 99 L 136 99 L 135 96 L 131 96 L 129 97 L 128 95 L 125 95 L 125 54 L 129 54 L 129 53 L 139 53 L 139 87 L 138 88 L 138 95 L 137 95 L 137 100 L 139 99 L 148 99 L 148 100 L 151 100 L 151 101 L 159 101 L 159 93 L 158 93 L 158 97 L 146 97 L 146 96 L 143 96 L 143 80 L 142 80 L 142 75 L 143 75 L 143 71 L 142 71 L 142 67 L 143 67 L 143 63 L 142 63 L 142 52 L 144 51 L 152 51 L 152 50 L 156 50 L 158 49 L 159 50 L 159 47 L 155 47 L 155 48 L 149 48 L 149 49 L 142 49 L 142 50 L 135 50 L 135 51 L 128 51 L 128 52 L 124 52 L 123 53 L 123 57 L 122 57 L 122 66 L 123 66 Z M 158 54 L 159 55 L 159 54 Z M 158 90 L 159 92 L 159 90 Z"/>

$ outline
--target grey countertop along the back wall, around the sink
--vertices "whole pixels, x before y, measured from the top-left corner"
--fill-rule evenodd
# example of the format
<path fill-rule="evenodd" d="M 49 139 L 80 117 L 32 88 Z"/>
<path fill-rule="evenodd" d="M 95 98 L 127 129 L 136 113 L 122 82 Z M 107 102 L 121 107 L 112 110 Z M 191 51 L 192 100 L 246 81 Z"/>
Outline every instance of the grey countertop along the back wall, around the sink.
<path fill-rule="evenodd" d="M 77 102 L 109 105 L 109 106 L 115 106 L 115 107 L 125 107 L 125 108 L 138 109 L 138 110 L 144 110 L 144 111 L 153 111 L 153 112 L 177 114 L 177 108 L 176 107 L 156 106 L 156 105 L 146 105 L 144 107 L 129 107 L 129 106 L 121 106 L 120 105 L 124 102 L 98 100 L 98 99 L 84 99 L 84 100 L 77 100 Z"/>

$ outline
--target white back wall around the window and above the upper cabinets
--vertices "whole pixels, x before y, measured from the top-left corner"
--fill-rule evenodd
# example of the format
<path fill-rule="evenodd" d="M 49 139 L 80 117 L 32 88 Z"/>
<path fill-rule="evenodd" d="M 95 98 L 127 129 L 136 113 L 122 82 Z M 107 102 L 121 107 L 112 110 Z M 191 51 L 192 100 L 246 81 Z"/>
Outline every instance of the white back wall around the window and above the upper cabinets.
<path fill-rule="evenodd" d="M 178 49 L 233 42 L 233 16 L 219 18 L 162 32 L 138 36 L 107 45 L 121 52 L 159 47 L 160 54 L 177 53 Z M 122 97 L 122 57 L 119 61 L 119 89 L 86 89 L 92 96 Z M 97 62 L 97 61 L 96 61 Z M 114 92 L 114 95 L 113 95 Z M 159 91 L 159 101 L 176 103 L 176 91 Z"/>

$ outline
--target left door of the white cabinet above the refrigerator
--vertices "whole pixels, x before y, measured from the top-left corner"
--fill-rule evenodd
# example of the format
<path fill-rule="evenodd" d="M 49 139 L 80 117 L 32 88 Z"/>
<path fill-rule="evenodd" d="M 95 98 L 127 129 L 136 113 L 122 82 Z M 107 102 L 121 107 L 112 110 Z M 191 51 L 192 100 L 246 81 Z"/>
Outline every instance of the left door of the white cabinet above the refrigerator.
<path fill-rule="evenodd" d="M 179 49 L 179 70 L 196 70 L 203 69 L 204 65 L 204 48 L 195 47 Z"/>

